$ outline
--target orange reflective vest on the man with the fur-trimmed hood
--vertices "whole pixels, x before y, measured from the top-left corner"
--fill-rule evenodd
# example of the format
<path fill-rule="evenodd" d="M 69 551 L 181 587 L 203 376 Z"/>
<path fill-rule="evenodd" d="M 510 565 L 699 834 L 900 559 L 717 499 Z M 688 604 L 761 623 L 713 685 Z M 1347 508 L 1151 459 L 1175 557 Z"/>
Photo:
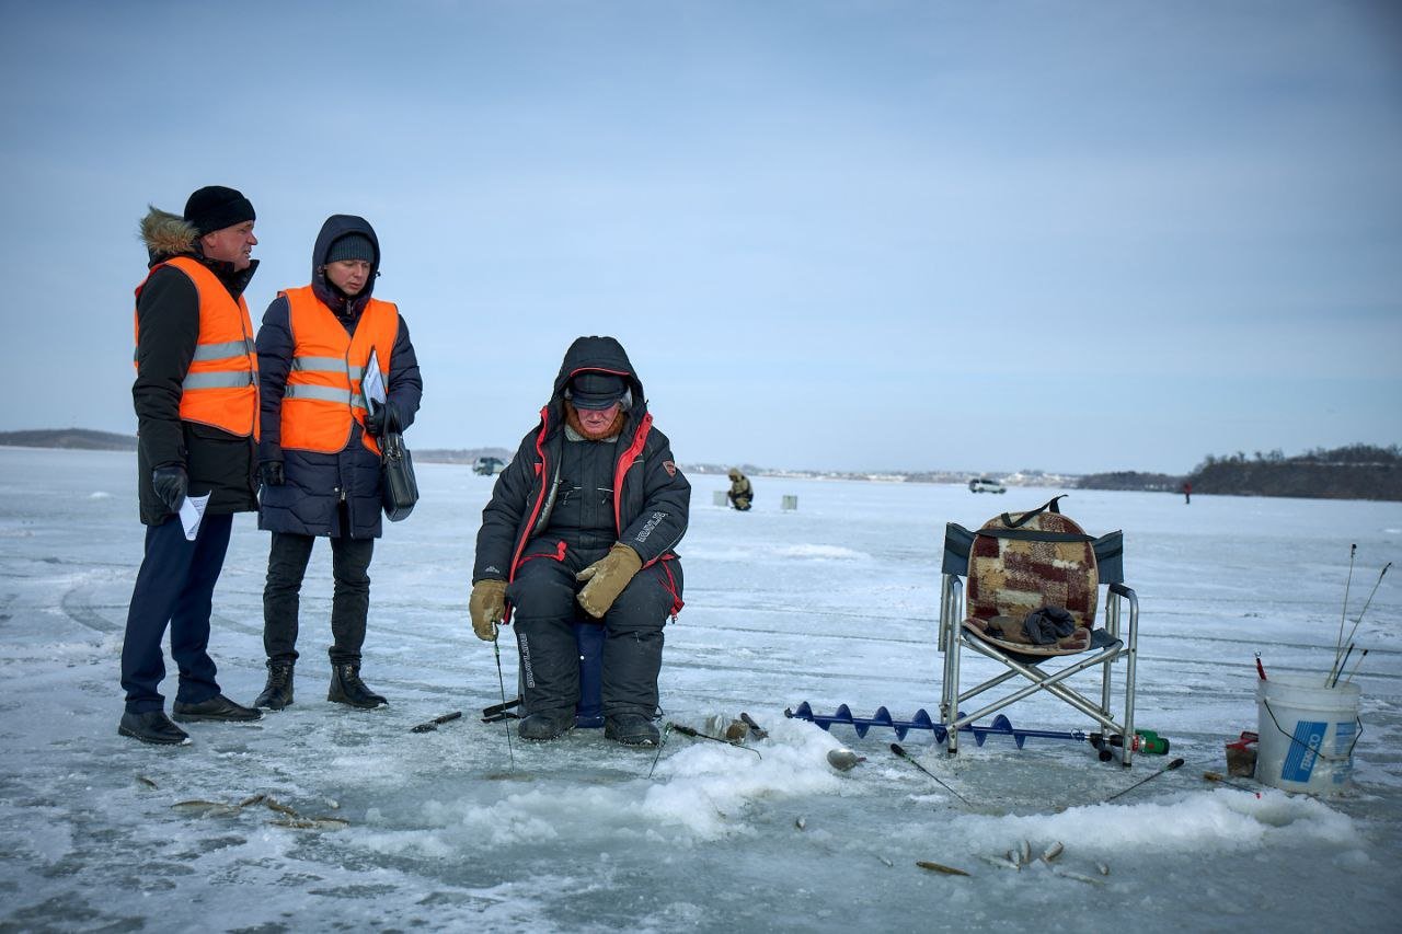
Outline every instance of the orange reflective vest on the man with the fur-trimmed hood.
<path fill-rule="evenodd" d="M 230 435 L 252 435 L 257 439 L 258 349 L 254 345 L 248 303 L 243 296 L 236 302 L 219 276 L 191 257 L 175 257 L 151 266 L 142 285 L 136 286 L 137 302 L 151 272 L 161 266 L 184 272 L 199 295 L 199 337 L 189 370 L 181 381 L 181 421 L 213 425 Z M 140 346 L 140 316 L 133 314 L 133 320 L 136 344 Z M 132 363 L 140 369 L 136 359 Z"/>

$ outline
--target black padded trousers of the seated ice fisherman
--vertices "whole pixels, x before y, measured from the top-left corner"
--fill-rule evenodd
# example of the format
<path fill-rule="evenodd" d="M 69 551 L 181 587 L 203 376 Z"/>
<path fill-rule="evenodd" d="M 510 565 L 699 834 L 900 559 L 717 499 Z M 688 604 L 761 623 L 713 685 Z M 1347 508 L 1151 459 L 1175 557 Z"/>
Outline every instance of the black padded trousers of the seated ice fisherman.
<path fill-rule="evenodd" d="M 508 588 L 526 712 L 576 708 L 579 647 L 571 621 L 592 617 L 575 602 L 585 586 L 575 574 L 607 553 L 608 548 L 569 550 L 564 558 L 536 554 L 522 562 Z M 604 717 L 656 714 L 662 627 L 674 599 L 667 583 L 660 564 L 644 568 L 604 613 Z"/>

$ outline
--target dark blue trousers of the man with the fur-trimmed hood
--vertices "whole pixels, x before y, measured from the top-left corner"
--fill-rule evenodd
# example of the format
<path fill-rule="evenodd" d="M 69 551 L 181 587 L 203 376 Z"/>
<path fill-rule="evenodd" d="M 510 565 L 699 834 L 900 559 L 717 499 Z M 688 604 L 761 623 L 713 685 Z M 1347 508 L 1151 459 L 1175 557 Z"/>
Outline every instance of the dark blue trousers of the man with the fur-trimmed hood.
<path fill-rule="evenodd" d="M 215 583 L 224 568 L 234 517 L 205 516 L 193 541 L 185 540 L 178 516 L 146 527 L 146 557 L 136 572 L 132 604 L 122 641 L 122 687 L 126 710 L 161 710 L 157 691 L 165 677 L 161 638 L 171 630 L 171 656 L 179 669 L 175 700 L 199 704 L 219 693 L 215 661 L 209 658 L 209 614 Z"/>

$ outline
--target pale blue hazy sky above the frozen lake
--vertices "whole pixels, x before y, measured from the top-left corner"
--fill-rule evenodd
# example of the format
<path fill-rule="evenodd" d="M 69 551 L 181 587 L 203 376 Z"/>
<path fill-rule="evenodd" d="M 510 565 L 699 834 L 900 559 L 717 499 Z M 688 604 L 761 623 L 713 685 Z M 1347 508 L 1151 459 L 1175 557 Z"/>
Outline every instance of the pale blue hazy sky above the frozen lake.
<path fill-rule="evenodd" d="M 1402 442 L 1395 3 L 0 0 L 8 405 L 133 432 L 137 222 L 384 250 L 411 447 L 515 449 L 569 341 L 683 463 L 1186 473 Z"/>

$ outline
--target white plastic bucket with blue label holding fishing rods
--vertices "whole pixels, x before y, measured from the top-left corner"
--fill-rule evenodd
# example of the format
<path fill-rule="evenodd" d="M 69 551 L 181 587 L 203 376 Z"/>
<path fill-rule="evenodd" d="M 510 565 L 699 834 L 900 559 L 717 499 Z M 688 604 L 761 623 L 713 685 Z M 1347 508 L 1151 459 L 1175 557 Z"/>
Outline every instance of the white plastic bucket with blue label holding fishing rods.
<path fill-rule="evenodd" d="M 1308 794 L 1343 791 L 1359 742 L 1359 686 L 1323 686 L 1323 675 L 1256 682 L 1260 749 L 1256 781 Z"/>

